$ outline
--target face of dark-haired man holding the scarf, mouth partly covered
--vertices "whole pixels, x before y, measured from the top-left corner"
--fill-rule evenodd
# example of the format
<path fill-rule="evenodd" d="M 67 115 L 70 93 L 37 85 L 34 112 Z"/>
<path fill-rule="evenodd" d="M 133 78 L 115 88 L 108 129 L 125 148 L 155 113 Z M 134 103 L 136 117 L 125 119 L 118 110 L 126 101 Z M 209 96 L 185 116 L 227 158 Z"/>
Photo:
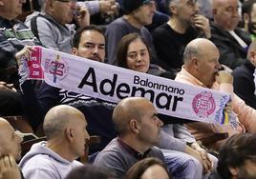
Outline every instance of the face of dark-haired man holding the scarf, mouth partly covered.
<path fill-rule="evenodd" d="M 105 58 L 105 38 L 96 30 L 86 30 L 82 33 L 78 49 L 73 49 L 77 56 L 103 62 Z"/>

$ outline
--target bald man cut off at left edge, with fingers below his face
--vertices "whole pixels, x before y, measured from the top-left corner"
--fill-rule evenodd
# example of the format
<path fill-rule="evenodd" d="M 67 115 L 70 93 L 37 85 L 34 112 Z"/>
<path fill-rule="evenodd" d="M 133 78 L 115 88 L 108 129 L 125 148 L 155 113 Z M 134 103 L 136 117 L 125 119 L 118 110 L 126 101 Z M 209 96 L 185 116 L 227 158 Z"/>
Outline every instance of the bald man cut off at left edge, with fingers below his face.
<path fill-rule="evenodd" d="M 16 161 L 20 159 L 22 138 L 11 124 L 0 117 L 0 179 L 19 179 L 20 171 Z"/>

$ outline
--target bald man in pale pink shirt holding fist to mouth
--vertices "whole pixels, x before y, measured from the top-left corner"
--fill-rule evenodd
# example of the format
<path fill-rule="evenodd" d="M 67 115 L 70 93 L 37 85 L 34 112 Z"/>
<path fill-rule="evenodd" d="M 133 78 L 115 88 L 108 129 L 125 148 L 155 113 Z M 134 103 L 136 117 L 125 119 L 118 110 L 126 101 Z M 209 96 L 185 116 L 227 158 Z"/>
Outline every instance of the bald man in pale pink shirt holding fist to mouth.
<path fill-rule="evenodd" d="M 233 77 L 225 70 L 220 70 L 220 53 L 216 46 L 207 39 L 191 41 L 184 50 L 184 65 L 176 81 L 208 89 L 217 89 L 232 94 L 231 110 L 237 114 L 237 122 L 232 125 L 217 125 L 203 122 L 187 124 L 186 127 L 197 140 L 207 138 L 216 132 L 227 132 L 229 136 L 246 131 L 256 132 L 256 110 L 233 94 Z M 219 149 L 223 141 L 207 145 L 207 148 Z"/>

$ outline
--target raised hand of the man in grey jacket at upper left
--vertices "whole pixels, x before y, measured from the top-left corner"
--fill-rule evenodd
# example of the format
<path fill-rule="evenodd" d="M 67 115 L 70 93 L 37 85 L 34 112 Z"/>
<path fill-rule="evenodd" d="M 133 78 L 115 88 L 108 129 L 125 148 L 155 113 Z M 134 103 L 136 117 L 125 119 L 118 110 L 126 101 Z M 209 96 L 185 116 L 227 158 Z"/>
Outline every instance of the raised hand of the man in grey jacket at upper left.
<path fill-rule="evenodd" d="M 77 6 L 78 13 L 74 14 L 74 19 L 79 27 L 86 27 L 90 25 L 90 12 L 85 6 Z"/>

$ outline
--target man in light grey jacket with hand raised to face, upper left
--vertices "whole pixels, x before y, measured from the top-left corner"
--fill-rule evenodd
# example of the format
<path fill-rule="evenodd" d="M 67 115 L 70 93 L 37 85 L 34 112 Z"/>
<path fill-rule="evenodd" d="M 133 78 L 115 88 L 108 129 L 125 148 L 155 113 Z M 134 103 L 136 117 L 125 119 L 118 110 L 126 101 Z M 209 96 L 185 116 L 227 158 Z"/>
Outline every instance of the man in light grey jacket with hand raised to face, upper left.
<path fill-rule="evenodd" d="M 86 7 L 76 6 L 76 0 L 46 0 L 45 12 L 32 17 L 26 24 L 43 46 L 70 53 L 75 30 L 67 24 L 72 22 L 77 28 L 90 24 Z"/>

